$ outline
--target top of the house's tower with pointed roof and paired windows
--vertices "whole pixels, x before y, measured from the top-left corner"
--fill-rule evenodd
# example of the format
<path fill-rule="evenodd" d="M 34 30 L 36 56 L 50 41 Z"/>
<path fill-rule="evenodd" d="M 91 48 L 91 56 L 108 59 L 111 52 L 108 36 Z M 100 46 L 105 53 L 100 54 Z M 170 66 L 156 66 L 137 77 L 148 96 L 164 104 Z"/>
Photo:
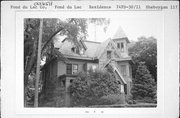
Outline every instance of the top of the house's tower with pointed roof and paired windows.
<path fill-rule="evenodd" d="M 128 56 L 127 44 L 129 43 L 129 40 L 121 27 L 118 28 L 112 39 L 116 44 L 118 52 L 122 56 Z"/>

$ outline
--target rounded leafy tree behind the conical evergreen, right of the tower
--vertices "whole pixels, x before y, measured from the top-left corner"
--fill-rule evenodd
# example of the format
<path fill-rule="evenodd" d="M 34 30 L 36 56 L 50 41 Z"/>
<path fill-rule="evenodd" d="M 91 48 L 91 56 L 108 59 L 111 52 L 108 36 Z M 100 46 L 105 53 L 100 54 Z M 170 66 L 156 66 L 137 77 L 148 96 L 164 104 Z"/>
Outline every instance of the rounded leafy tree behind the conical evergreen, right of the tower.
<path fill-rule="evenodd" d="M 129 45 L 129 55 L 134 62 L 133 75 L 139 62 L 145 62 L 150 74 L 157 81 L 157 40 L 153 37 L 140 37 Z"/>

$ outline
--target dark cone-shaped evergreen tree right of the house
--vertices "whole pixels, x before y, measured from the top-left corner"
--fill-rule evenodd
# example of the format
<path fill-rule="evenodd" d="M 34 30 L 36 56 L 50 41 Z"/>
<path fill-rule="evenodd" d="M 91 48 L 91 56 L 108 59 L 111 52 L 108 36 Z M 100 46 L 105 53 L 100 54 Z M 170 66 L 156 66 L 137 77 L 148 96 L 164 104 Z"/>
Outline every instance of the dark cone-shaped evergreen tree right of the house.
<path fill-rule="evenodd" d="M 139 63 L 132 82 L 131 93 L 133 99 L 142 100 L 144 98 L 150 98 L 150 100 L 154 100 L 156 98 L 156 83 L 143 62 Z"/>

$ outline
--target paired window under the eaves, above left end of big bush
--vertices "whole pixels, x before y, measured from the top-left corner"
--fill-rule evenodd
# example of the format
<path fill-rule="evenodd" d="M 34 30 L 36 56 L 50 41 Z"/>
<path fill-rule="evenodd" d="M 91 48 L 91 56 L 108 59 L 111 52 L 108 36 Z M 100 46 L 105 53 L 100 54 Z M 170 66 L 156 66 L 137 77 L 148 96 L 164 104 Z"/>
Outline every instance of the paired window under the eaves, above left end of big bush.
<path fill-rule="evenodd" d="M 75 74 L 78 72 L 78 64 L 67 64 L 66 74 Z"/>

